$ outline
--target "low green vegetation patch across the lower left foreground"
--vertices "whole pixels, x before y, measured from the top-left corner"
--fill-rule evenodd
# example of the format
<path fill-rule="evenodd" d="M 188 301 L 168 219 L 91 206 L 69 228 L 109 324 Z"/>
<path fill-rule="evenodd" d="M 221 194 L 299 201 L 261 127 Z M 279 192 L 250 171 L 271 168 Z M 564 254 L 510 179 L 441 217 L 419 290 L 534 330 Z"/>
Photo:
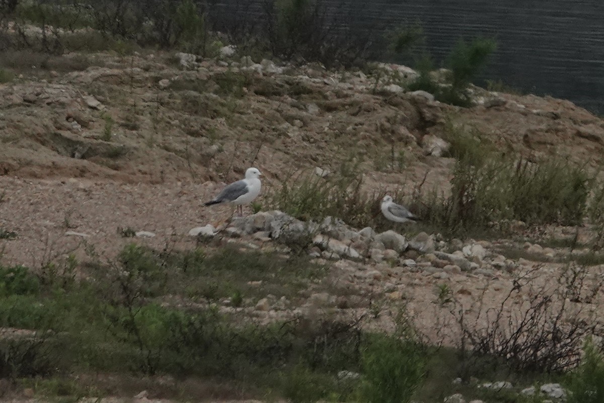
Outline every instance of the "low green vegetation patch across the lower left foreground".
<path fill-rule="evenodd" d="M 86 276 L 77 281 L 68 274 L 71 269 L 59 266 L 52 278 L 48 271 L 0 266 L 0 326 L 22 329 L 0 340 L 0 375 L 32 381 L 41 376 L 35 388 L 42 395 L 98 396 L 102 390 L 62 378 L 92 370 L 225 379 L 298 402 L 330 396 L 346 400 L 357 393 L 358 382 L 339 379 L 339 371 L 358 372 L 364 366 L 373 372 L 376 360 L 391 355 L 386 347 L 403 345 L 393 337 L 365 334 L 356 322 L 312 318 L 257 326 L 219 314 L 213 306 L 170 302 L 175 295 L 188 300 L 184 283 L 191 289 L 210 278 L 216 281 L 216 295 L 227 279 L 242 285 L 262 281 L 256 287 L 264 295 L 277 292 L 265 288 L 275 274 L 289 276 L 280 284 L 295 276 L 305 280 L 301 263 L 284 264 L 277 255 L 155 252 L 130 244 L 109 265 L 83 266 Z M 233 305 L 248 304 L 243 298 L 248 293 L 233 291 Z M 410 343 L 404 344 L 408 353 Z M 416 361 L 403 364 L 409 373 L 419 371 L 411 368 Z M 364 387 L 372 382 L 367 379 Z"/>

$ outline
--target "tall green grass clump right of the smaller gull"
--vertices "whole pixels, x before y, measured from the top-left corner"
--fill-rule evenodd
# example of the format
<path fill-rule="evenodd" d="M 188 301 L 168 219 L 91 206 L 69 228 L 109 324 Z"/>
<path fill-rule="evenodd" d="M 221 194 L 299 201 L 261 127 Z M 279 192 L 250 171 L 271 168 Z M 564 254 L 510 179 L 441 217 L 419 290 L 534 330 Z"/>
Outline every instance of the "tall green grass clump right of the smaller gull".
<path fill-rule="evenodd" d="M 480 160 L 480 157 L 478 157 Z M 527 224 L 576 224 L 585 214 L 591 176 L 566 161 L 474 158 L 457 161 L 451 195 L 418 196 L 418 213 L 454 231 L 488 228 L 513 220 Z"/>

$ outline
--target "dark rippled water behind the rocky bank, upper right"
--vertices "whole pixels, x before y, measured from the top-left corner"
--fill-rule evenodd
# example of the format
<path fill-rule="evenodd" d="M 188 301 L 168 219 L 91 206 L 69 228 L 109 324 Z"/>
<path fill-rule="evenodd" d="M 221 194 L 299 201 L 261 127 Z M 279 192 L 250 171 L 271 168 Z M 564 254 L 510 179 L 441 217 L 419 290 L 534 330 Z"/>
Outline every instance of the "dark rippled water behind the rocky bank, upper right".
<path fill-rule="evenodd" d="M 445 59 L 460 37 L 495 37 L 498 49 L 487 79 L 538 95 L 569 99 L 604 112 L 603 0 L 326 0 L 337 13 L 356 15 L 359 29 L 419 22 L 426 48 Z M 245 3 L 260 18 L 263 0 Z"/>

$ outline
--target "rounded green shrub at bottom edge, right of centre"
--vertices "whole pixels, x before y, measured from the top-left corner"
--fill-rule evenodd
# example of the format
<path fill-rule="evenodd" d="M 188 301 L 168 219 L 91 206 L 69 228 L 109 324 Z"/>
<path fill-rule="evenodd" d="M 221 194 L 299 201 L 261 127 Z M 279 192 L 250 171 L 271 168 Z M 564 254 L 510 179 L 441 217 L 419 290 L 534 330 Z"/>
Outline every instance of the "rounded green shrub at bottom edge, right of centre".
<path fill-rule="evenodd" d="M 373 335 L 361 363 L 361 394 L 370 403 L 408 403 L 425 376 L 424 353 L 410 340 Z"/>

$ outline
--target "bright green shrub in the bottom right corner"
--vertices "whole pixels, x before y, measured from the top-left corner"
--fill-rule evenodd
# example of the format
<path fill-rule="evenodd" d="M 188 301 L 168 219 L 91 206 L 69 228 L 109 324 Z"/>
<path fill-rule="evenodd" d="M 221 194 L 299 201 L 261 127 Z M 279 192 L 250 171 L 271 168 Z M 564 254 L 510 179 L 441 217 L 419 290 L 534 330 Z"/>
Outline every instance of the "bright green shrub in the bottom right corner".
<path fill-rule="evenodd" d="M 583 348 L 583 359 L 566 382 L 568 403 L 604 402 L 604 355 L 588 341 Z"/>

